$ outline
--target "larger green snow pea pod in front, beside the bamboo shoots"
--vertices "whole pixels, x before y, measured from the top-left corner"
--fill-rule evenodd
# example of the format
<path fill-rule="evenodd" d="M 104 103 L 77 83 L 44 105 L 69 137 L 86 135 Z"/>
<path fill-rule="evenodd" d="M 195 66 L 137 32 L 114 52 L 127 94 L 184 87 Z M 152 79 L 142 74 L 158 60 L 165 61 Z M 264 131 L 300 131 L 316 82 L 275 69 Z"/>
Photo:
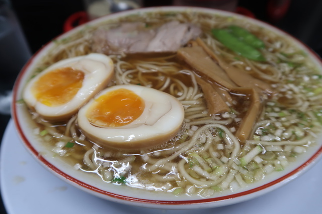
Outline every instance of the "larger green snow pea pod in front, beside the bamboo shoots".
<path fill-rule="evenodd" d="M 262 53 L 247 43 L 240 41 L 226 29 L 212 29 L 212 35 L 224 46 L 239 54 L 255 61 L 266 61 Z"/>

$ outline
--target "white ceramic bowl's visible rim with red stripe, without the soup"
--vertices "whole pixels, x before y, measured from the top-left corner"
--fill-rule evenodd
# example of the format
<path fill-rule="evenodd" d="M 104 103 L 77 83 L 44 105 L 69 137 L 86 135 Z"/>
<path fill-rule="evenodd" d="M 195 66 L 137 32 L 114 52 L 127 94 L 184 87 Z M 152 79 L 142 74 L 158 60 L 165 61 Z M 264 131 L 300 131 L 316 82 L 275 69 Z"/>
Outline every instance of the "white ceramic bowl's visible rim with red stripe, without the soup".
<path fill-rule="evenodd" d="M 270 29 L 271 31 L 274 31 L 275 33 L 285 36 L 289 40 L 293 41 L 300 49 L 306 51 L 312 58 L 316 66 L 319 68 L 319 70 L 322 70 L 322 64 L 319 57 L 301 42 L 287 35 L 285 32 L 282 32 L 275 27 L 267 25 L 263 22 L 229 12 L 189 7 L 146 8 L 112 14 L 94 20 L 87 25 L 97 24 L 109 19 L 116 19 L 123 16 L 129 16 L 131 14 L 157 11 L 194 11 L 246 19 L 251 23 L 263 26 L 264 28 Z M 70 32 L 59 36 L 57 39 L 68 37 L 68 35 L 73 34 L 84 27 L 85 25 L 79 26 L 71 30 Z M 175 196 L 171 193 L 151 192 L 130 188 L 125 185 L 118 186 L 113 184 L 106 184 L 98 176 L 95 177 L 90 173 L 84 173 L 81 170 L 75 170 L 73 166 L 64 163 L 61 159 L 54 158 L 53 153 L 51 151 L 48 151 L 39 137 L 32 134 L 33 129 L 35 128 L 35 124 L 31 121 L 26 106 L 16 102 L 17 100 L 21 99 L 22 91 L 24 90 L 26 82 L 30 79 L 37 61 L 39 61 L 44 55 L 46 55 L 46 53 L 50 50 L 50 48 L 53 47 L 53 45 L 53 42 L 49 42 L 47 45 L 45 45 L 32 57 L 32 59 L 29 60 L 29 62 L 21 71 L 14 87 L 12 116 L 14 118 L 16 128 L 23 144 L 45 168 L 51 171 L 54 175 L 65 180 L 67 183 L 83 189 L 84 191 L 87 191 L 91 194 L 115 202 L 153 208 L 191 209 L 223 206 L 245 201 L 272 191 L 304 173 L 321 157 L 322 139 L 319 139 L 316 146 L 310 147 L 306 151 L 306 153 L 300 155 L 297 161 L 290 164 L 284 171 L 271 173 L 266 176 L 265 179 L 251 184 L 247 188 L 238 189 L 235 192 L 223 191 L 221 193 L 216 193 L 209 198 L 201 198 L 200 196 L 192 197 L 187 195 Z"/>

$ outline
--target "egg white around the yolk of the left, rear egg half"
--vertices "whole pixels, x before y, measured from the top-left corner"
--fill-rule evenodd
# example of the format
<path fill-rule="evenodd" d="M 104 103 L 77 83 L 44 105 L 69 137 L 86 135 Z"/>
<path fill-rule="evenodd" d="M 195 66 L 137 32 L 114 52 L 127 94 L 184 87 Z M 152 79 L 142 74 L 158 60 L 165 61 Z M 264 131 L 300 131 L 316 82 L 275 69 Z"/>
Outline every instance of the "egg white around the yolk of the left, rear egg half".
<path fill-rule="evenodd" d="M 32 93 L 34 83 L 46 73 L 63 67 L 71 67 L 84 72 L 82 87 L 72 99 L 58 106 L 48 106 L 38 101 Z M 113 61 L 104 54 L 91 53 L 85 56 L 64 59 L 32 78 L 24 90 L 23 99 L 29 108 L 34 109 L 41 117 L 50 121 L 63 121 L 75 115 L 81 106 L 106 87 L 113 75 Z"/>

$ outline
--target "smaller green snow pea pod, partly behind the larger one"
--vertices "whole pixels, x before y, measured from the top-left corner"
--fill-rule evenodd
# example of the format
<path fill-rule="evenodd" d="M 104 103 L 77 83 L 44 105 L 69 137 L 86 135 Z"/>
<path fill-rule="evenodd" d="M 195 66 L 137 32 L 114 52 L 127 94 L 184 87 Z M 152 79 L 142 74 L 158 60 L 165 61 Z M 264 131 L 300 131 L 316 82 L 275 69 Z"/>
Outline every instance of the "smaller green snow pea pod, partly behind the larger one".
<path fill-rule="evenodd" d="M 264 42 L 248 30 L 235 25 L 229 26 L 228 29 L 234 36 L 238 37 L 238 39 L 253 46 L 254 48 L 265 48 Z"/>

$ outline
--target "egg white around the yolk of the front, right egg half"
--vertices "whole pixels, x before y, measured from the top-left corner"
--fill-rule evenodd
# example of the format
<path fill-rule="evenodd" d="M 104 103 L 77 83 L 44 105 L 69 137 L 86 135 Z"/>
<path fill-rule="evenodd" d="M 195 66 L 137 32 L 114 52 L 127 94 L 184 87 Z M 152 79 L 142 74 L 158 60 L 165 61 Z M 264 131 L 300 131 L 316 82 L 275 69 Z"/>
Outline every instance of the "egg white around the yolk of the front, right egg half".
<path fill-rule="evenodd" d="M 120 127 L 98 127 L 91 124 L 86 113 L 95 104 L 95 98 L 120 88 L 131 90 L 144 100 L 145 109 L 141 116 Z M 174 96 L 153 88 L 115 85 L 104 89 L 95 98 L 79 110 L 77 123 L 84 135 L 103 147 L 128 150 L 153 147 L 175 137 L 184 120 L 181 102 Z"/>

